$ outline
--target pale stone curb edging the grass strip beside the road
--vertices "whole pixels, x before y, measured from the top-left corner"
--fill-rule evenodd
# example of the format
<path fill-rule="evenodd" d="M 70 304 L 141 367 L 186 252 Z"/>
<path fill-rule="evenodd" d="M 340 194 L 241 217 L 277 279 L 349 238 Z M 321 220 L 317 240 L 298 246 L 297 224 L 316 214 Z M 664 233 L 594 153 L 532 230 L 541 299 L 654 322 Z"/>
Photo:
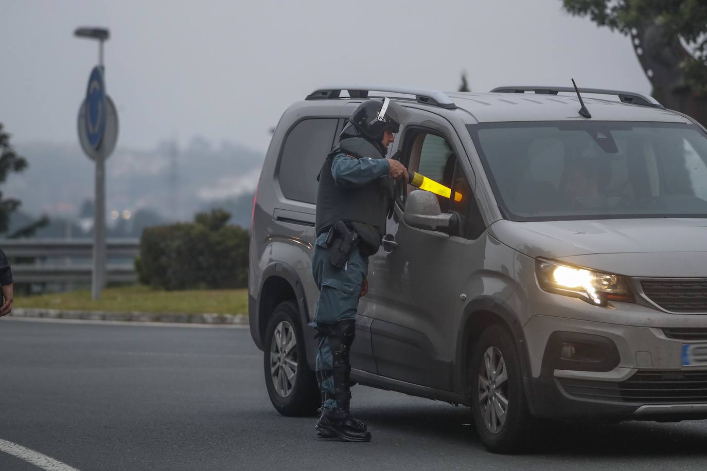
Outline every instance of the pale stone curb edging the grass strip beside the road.
<path fill-rule="evenodd" d="M 229 325 L 245 325 L 248 323 L 248 317 L 245 314 L 215 313 L 183 314 L 168 312 L 64 311 L 60 309 L 15 308 L 9 316 L 73 319 L 84 321 L 168 322 Z"/>

